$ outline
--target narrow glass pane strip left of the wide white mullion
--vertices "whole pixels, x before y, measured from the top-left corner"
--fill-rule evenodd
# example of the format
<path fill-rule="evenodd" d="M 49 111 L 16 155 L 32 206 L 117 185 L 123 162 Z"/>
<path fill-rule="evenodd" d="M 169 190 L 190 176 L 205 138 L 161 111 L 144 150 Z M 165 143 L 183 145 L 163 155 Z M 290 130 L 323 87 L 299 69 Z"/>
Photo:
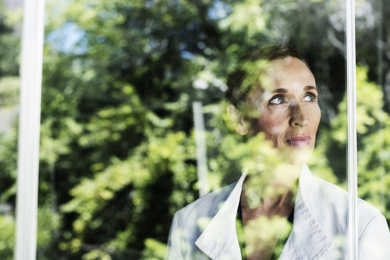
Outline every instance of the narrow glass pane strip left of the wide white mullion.
<path fill-rule="evenodd" d="M 0 255 L 13 259 L 21 3 L 0 1 Z"/>

